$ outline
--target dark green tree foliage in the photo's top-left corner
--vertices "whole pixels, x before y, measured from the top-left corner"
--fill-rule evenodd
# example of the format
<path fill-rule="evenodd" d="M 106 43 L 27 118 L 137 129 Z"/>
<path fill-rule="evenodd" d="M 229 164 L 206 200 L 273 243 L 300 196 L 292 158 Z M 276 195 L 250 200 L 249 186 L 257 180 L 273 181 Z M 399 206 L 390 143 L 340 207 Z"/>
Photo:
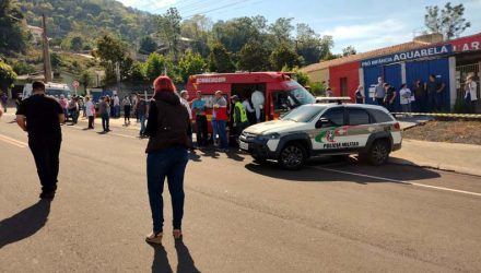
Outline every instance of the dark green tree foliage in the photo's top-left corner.
<path fill-rule="evenodd" d="M 0 1 L 0 52 L 8 56 L 26 52 L 28 34 L 22 28 L 22 19 L 16 1 Z"/>

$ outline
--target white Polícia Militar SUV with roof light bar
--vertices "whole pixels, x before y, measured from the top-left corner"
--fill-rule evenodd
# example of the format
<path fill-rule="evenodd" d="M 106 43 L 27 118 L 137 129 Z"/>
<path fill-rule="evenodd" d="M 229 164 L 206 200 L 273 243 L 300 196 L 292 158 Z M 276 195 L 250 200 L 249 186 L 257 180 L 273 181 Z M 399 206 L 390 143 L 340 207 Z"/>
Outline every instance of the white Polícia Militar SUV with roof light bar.
<path fill-rule="evenodd" d="M 359 154 L 382 165 L 401 149 L 399 122 L 384 107 L 359 104 L 309 104 L 280 120 L 258 123 L 239 136 L 241 150 L 255 161 L 278 161 L 285 169 L 300 169 L 316 155 Z"/>

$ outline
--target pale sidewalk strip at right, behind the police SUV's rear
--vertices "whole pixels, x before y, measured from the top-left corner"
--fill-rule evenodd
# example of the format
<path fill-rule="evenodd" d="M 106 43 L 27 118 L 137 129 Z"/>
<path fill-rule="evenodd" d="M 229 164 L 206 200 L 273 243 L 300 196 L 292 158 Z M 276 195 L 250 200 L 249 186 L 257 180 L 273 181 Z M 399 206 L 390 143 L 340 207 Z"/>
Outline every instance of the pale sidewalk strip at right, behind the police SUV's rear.
<path fill-rule="evenodd" d="M 390 162 L 481 176 L 481 146 L 404 139 Z"/>

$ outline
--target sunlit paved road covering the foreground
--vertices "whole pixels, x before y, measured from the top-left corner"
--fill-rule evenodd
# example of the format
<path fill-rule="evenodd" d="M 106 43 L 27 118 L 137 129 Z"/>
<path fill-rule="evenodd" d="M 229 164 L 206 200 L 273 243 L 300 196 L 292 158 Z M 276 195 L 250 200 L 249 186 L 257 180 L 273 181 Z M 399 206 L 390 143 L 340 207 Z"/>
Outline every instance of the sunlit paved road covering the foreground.
<path fill-rule="evenodd" d="M 331 158 L 290 173 L 199 152 L 187 169 L 184 241 L 166 236 L 153 248 L 143 241 L 146 140 L 63 127 L 49 204 L 11 119 L 0 120 L 0 272 L 481 271 L 479 177 Z"/>

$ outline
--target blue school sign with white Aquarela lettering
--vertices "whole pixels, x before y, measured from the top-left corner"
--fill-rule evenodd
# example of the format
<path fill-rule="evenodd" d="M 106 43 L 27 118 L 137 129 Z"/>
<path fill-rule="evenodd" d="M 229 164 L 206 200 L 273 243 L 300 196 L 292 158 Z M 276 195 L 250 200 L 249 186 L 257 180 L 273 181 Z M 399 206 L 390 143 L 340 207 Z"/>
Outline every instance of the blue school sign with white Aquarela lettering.
<path fill-rule="evenodd" d="M 361 66 L 363 68 L 385 66 L 394 62 L 415 60 L 420 58 L 437 57 L 443 55 L 449 55 L 453 52 L 451 45 L 433 46 L 427 48 L 414 49 L 411 51 L 394 54 L 373 59 L 363 60 Z"/>

